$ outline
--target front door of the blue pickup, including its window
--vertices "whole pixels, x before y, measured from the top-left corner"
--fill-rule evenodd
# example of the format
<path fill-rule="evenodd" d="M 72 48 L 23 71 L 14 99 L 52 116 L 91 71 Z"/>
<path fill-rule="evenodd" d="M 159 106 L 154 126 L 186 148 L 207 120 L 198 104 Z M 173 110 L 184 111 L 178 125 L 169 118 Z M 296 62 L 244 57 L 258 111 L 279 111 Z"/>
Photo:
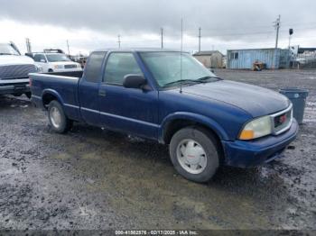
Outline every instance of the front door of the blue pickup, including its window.
<path fill-rule="evenodd" d="M 134 54 L 112 52 L 98 93 L 101 122 L 113 130 L 157 139 L 158 92 L 125 88 L 127 74 L 143 75 Z"/>

